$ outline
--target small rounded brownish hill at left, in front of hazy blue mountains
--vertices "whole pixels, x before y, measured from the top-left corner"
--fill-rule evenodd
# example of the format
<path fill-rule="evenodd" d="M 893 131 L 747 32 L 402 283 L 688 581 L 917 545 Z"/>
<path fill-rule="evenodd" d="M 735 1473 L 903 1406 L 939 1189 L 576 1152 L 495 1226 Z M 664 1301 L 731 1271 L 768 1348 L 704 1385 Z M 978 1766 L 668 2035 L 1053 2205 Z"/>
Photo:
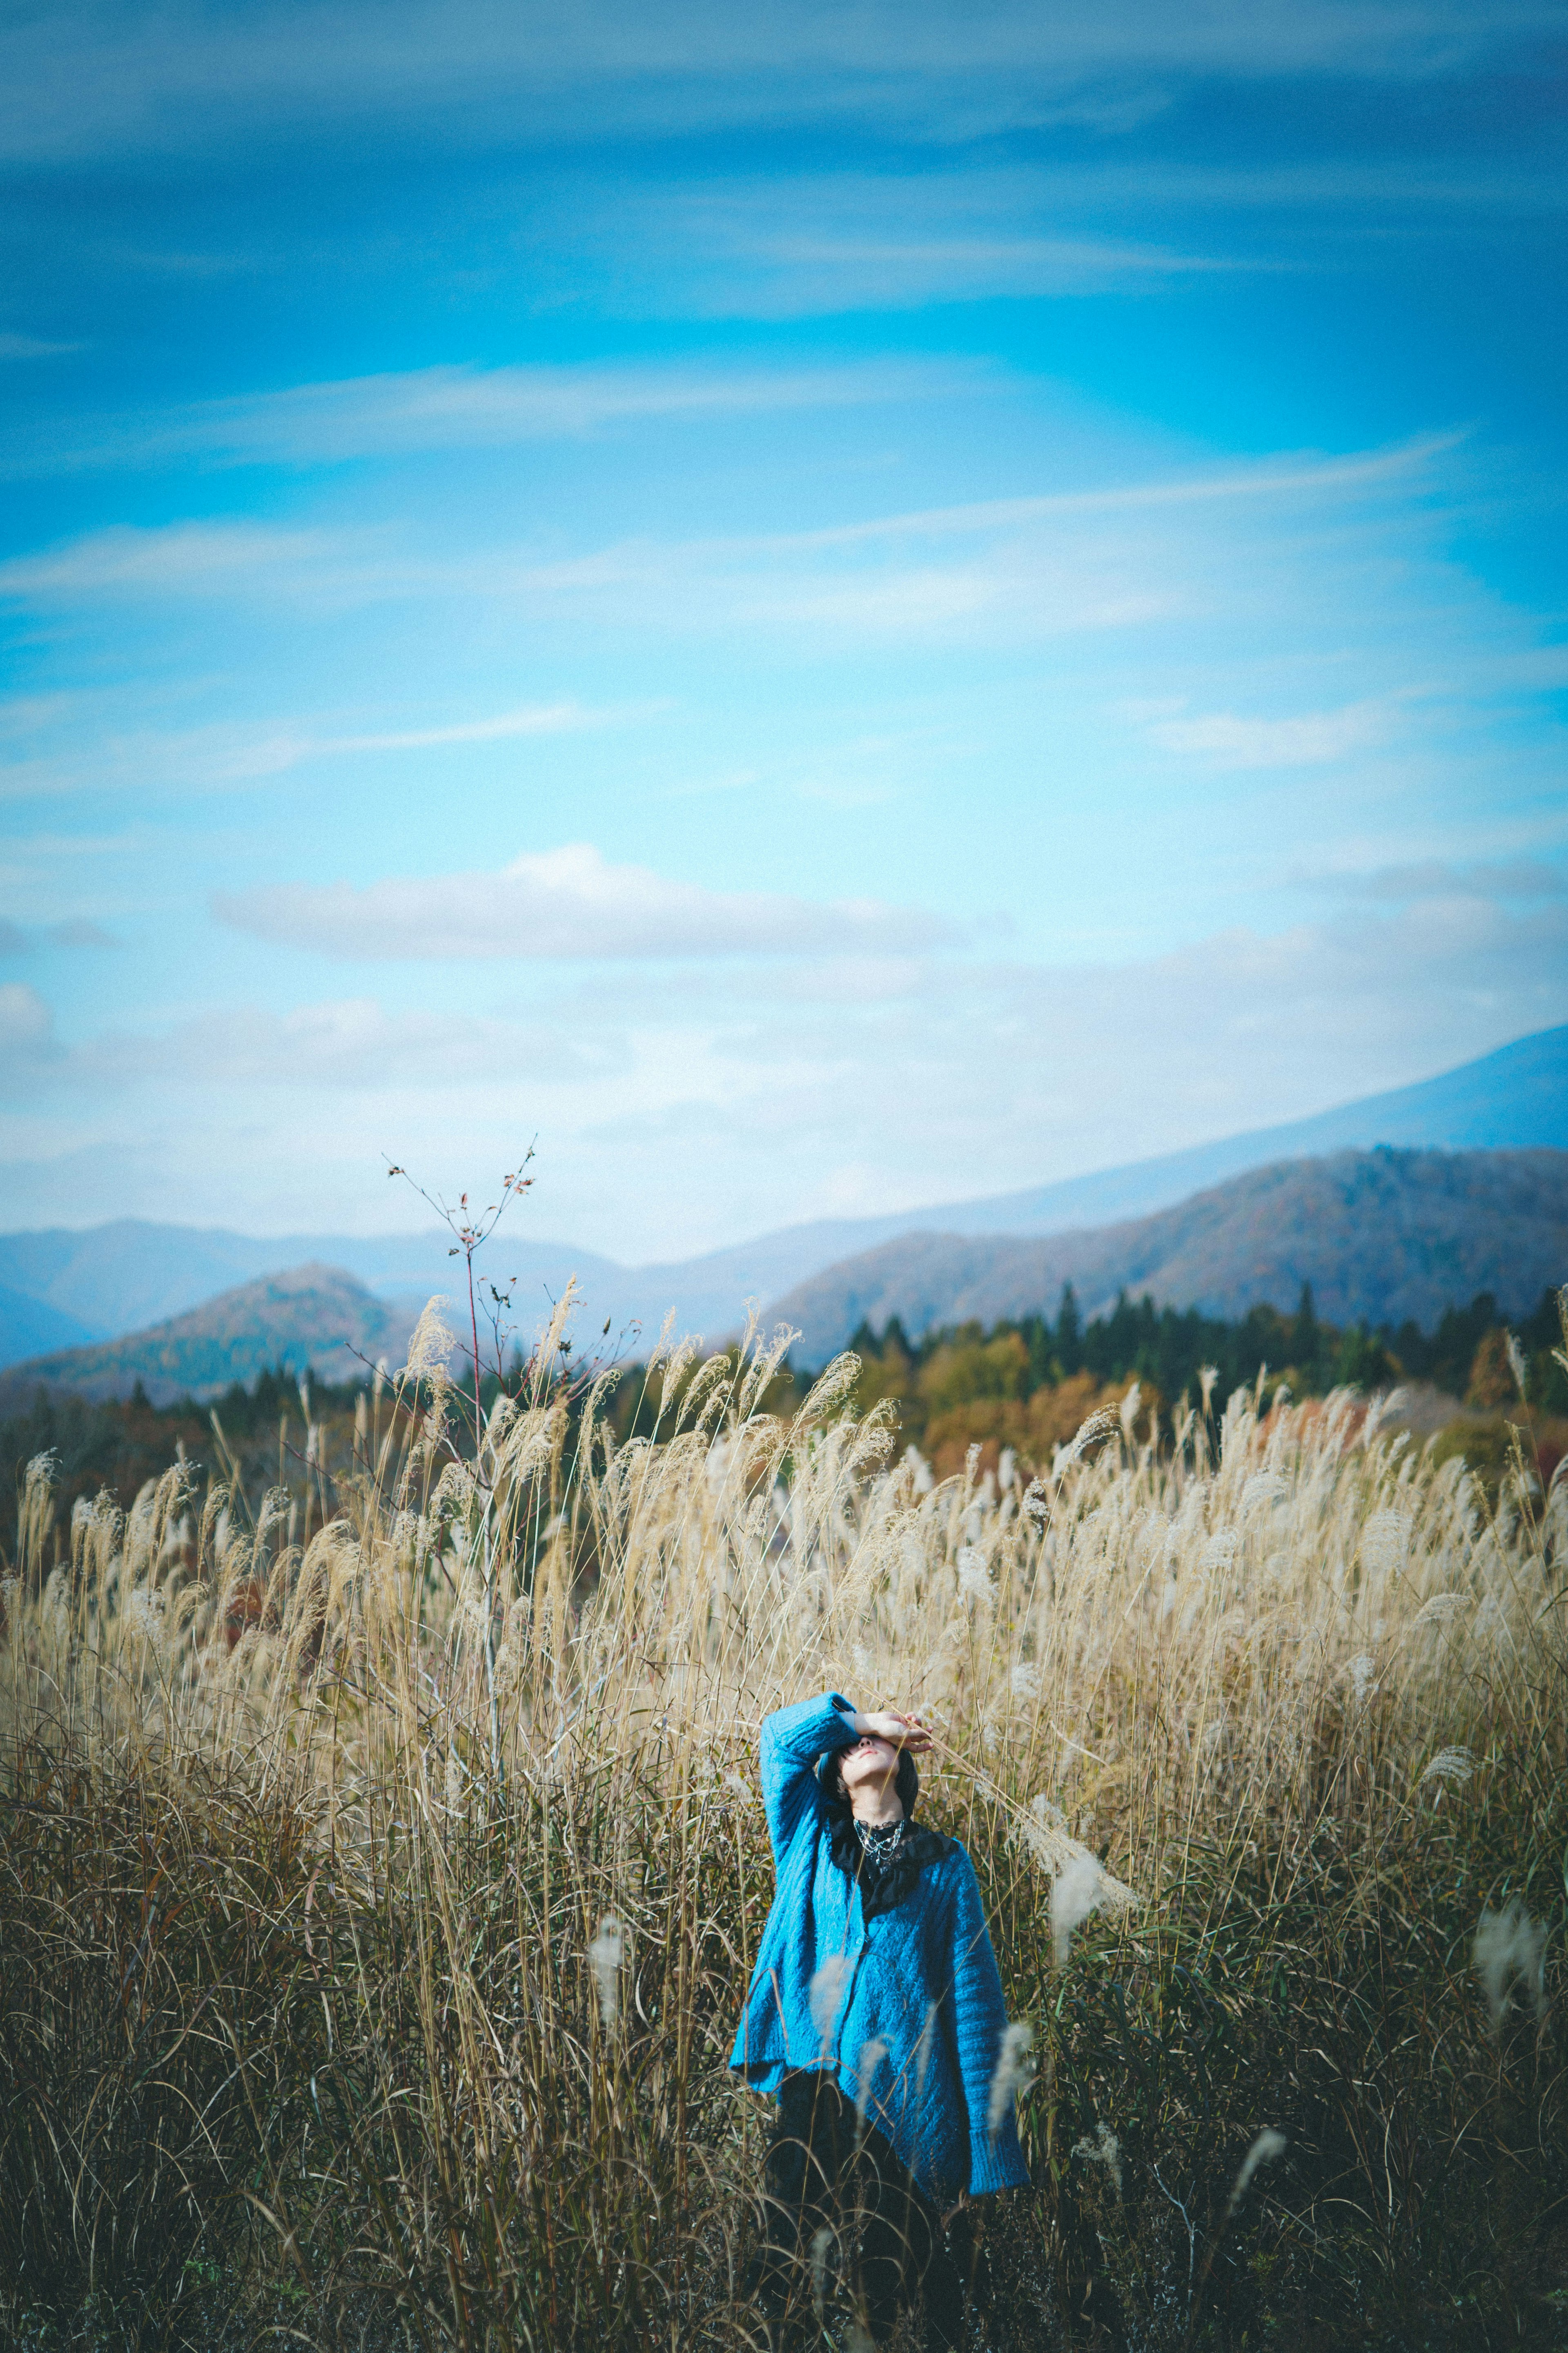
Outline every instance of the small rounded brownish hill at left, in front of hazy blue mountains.
<path fill-rule="evenodd" d="M 322 1381 L 357 1381 L 364 1360 L 400 1365 L 423 1301 L 378 1299 L 341 1266 L 294 1266 L 221 1292 L 127 1339 L 61 1348 L 0 1377 L 0 1402 L 38 1388 L 82 1398 L 129 1398 L 136 1384 L 153 1405 L 223 1395 L 268 1365 L 306 1365 Z"/>

